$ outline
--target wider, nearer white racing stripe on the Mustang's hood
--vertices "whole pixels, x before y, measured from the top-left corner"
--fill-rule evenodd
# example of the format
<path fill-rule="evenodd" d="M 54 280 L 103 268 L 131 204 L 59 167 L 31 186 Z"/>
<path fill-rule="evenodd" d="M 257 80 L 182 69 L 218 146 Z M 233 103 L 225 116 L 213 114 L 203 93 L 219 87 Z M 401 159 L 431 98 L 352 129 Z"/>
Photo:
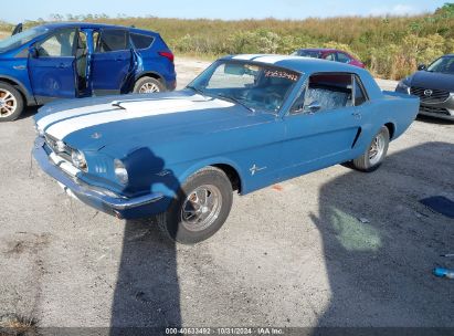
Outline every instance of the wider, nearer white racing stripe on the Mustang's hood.
<path fill-rule="evenodd" d="M 114 102 L 113 102 L 114 103 Z M 181 113 L 188 111 L 207 108 L 226 108 L 234 104 L 221 99 L 190 101 L 190 99 L 162 99 L 162 101 L 138 101 L 115 102 L 120 106 L 113 111 L 93 113 L 80 117 L 55 123 L 46 129 L 46 133 L 56 139 L 63 139 L 73 132 L 96 125 L 120 122 L 127 119 L 142 118 L 161 114 Z M 93 106 L 92 106 L 93 107 Z M 109 105 L 112 108 L 112 103 Z M 93 112 L 93 109 L 92 109 Z"/>

